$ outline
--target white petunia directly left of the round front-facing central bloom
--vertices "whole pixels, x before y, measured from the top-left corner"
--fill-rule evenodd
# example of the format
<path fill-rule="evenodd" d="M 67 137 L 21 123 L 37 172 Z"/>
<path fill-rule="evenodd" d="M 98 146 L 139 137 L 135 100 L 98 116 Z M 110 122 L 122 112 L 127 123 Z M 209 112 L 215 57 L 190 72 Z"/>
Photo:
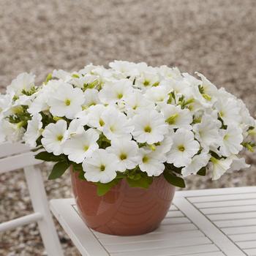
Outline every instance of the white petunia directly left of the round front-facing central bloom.
<path fill-rule="evenodd" d="M 119 112 L 116 108 L 108 108 L 102 113 L 104 127 L 102 132 L 109 139 L 114 138 L 132 138 L 131 132 L 134 126 L 128 120 L 124 113 Z"/>

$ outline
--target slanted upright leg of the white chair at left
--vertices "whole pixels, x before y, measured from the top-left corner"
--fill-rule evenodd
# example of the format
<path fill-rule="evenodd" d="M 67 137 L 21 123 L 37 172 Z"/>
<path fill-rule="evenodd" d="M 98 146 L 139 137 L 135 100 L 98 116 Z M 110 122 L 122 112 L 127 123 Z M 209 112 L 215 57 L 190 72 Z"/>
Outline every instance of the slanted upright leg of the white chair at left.
<path fill-rule="evenodd" d="M 61 244 L 48 207 L 42 173 L 34 166 L 24 167 L 24 173 L 34 211 L 42 214 L 42 219 L 37 223 L 48 256 L 62 256 Z"/>

